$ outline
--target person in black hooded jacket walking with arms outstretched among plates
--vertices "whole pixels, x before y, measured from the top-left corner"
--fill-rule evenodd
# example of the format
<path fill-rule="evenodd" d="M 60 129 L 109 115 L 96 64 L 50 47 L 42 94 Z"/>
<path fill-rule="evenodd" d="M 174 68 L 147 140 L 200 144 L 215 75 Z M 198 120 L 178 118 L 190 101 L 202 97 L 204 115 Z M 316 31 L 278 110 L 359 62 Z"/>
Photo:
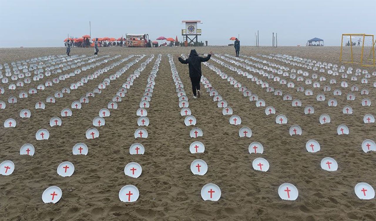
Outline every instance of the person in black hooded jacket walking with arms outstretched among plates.
<path fill-rule="evenodd" d="M 210 54 L 206 56 L 206 58 L 202 58 L 197 54 L 197 51 L 195 49 L 191 50 L 191 53 L 189 54 L 189 57 L 184 60 L 182 58 L 178 58 L 180 63 L 182 64 L 188 64 L 189 68 L 189 77 L 191 78 L 192 83 L 192 91 L 193 91 L 193 98 L 200 97 L 200 80 L 201 80 L 201 62 L 209 61 L 211 55 L 213 54 L 212 51 L 210 51 Z M 197 90 L 197 93 L 196 93 Z"/>

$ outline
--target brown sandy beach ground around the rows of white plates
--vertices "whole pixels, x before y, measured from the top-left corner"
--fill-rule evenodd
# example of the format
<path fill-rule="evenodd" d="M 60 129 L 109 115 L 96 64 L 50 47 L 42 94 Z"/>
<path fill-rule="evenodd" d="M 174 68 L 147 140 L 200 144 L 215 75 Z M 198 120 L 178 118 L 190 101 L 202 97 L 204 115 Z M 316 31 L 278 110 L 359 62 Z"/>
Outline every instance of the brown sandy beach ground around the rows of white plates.
<path fill-rule="evenodd" d="M 376 91 L 373 87 L 375 76 L 368 79 L 368 84 L 343 79 L 340 76 L 329 76 L 326 73 L 293 67 L 275 59 L 266 59 L 257 54 L 269 55 L 288 54 L 321 62 L 343 65 L 339 62 L 340 47 L 242 47 L 240 54 L 265 59 L 285 67 L 302 69 L 309 74 L 316 73 L 325 76 L 326 82 L 320 82 L 320 88 L 306 85 L 304 81 L 286 77 L 295 83 L 295 88 L 280 85 L 272 79 L 267 80 L 269 86 L 281 89 L 284 94 L 292 95 L 293 99 L 302 101 L 301 107 L 293 107 L 291 101 L 284 101 L 282 96 L 267 92 L 265 88 L 256 85 L 247 77 L 238 75 L 222 65 L 209 60 L 208 62 L 220 68 L 228 76 L 242 83 L 263 99 L 266 106 L 273 106 L 277 114 L 284 114 L 288 123 L 276 124 L 276 115 L 265 115 L 265 107 L 256 107 L 255 102 L 249 101 L 237 88 L 227 80 L 221 79 L 214 71 L 202 65 L 203 76 L 232 107 L 234 114 L 241 117 L 241 125 L 229 124 L 230 115 L 223 115 L 213 97 L 209 97 L 202 86 L 202 97 L 194 100 L 188 65 L 180 64 L 177 56 L 188 55 L 190 47 L 161 47 L 161 48 L 100 48 L 99 56 L 109 55 L 109 58 L 120 55 L 112 61 L 82 71 L 77 76 L 70 77 L 43 91 L 18 99 L 15 104 L 8 104 L 8 97 L 18 98 L 21 91 L 28 91 L 45 80 L 55 76 L 45 77 L 39 82 L 32 82 L 24 87 L 8 90 L 8 84 L 2 83 L 6 89 L 0 94 L 0 100 L 6 102 L 6 109 L 0 109 L 0 122 L 8 118 L 17 121 L 15 128 L 0 127 L 0 162 L 12 160 L 15 170 L 10 176 L 0 176 L 0 214 L 2 220 L 132 220 L 132 221 L 196 221 L 196 220 L 262 220 L 262 221 L 314 221 L 314 220 L 376 220 L 376 204 L 373 200 L 360 200 L 356 197 L 354 186 L 365 182 L 376 187 L 374 173 L 374 158 L 376 153 L 364 153 L 361 144 L 365 139 L 376 139 L 375 124 L 363 123 L 365 114 L 376 115 L 374 105 Z M 231 46 L 197 47 L 198 53 L 231 54 L 235 51 Z M 92 56 L 93 48 L 71 48 L 71 55 Z M 354 53 L 360 53 L 358 48 Z M 21 61 L 47 55 L 65 54 L 65 48 L 0 48 L 0 64 Z M 82 109 L 73 109 L 72 117 L 62 118 L 63 108 L 70 108 L 71 103 L 79 100 L 86 92 L 92 91 L 99 83 L 111 74 L 115 74 L 128 62 L 101 74 L 79 89 L 71 90 L 70 94 L 56 99 L 55 104 L 46 103 L 45 110 L 35 109 L 38 101 L 45 101 L 56 91 L 69 87 L 83 76 L 92 74 L 109 64 L 129 55 L 146 56 L 129 68 L 118 79 L 89 98 L 89 103 L 82 104 Z M 106 117 L 106 125 L 99 127 L 100 136 L 97 139 L 86 139 L 85 132 L 92 126 L 92 119 L 98 116 L 99 110 L 107 107 L 109 101 L 126 82 L 140 64 L 154 54 L 155 58 L 146 66 L 126 96 L 118 102 L 118 109 L 110 110 L 111 116 Z M 155 88 L 147 108 L 150 125 L 146 128 L 149 137 L 135 139 L 133 133 L 139 126 L 136 111 L 148 83 L 148 76 L 158 54 L 162 54 L 161 64 Z M 197 127 L 203 130 L 203 137 L 190 138 L 193 126 L 185 126 L 184 117 L 180 116 L 179 98 L 171 74 L 167 54 L 174 55 L 177 71 L 189 98 L 189 108 L 197 119 Z M 230 62 L 213 56 L 213 58 L 230 64 Z M 232 57 L 227 56 L 229 59 Z M 246 59 L 244 57 L 241 57 Z M 250 58 L 248 58 L 250 59 Z M 103 59 L 102 59 L 103 60 Z M 100 60 L 101 61 L 101 60 Z M 245 63 L 245 62 L 241 62 Z M 235 64 L 231 64 L 236 66 Z M 345 64 L 347 67 L 361 68 L 358 64 Z M 236 66 L 245 70 L 245 68 Z M 368 73 L 376 68 L 361 68 Z M 3 75 L 5 75 L 5 71 Z M 62 71 L 70 73 L 71 70 Z M 311 76 L 311 75 L 310 75 Z M 329 80 L 337 80 L 330 85 Z M 318 81 L 318 79 L 312 79 Z M 340 83 L 346 80 L 348 88 L 342 88 Z M 330 85 L 331 91 L 323 91 L 324 85 Z M 359 91 L 354 91 L 354 101 L 346 99 L 351 92 L 350 87 L 357 85 Z M 297 92 L 296 88 L 303 86 L 311 89 L 313 96 Z M 339 88 L 342 95 L 334 96 L 333 90 Z M 361 95 L 360 90 L 367 88 L 368 95 Z M 326 101 L 319 102 L 316 95 L 322 93 Z M 327 100 L 335 98 L 336 107 L 329 107 Z M 362 106 L 363 98 L 369 98 L 371 106 Z M 304 107 L 314 107 L 314 114 L 305 115 Z M 343 114 L 344 106 L 350 105 L 353 114 Z M 30 118 L 21 118 L 21 109 L 31 111 Z M 320 124 L 321 114 L 328 114 L 331 123 Z M 62 126 L 50 127 L 52 117 L 61 117 Z M 302 128 L 301 136 L 290 136 L 289 128 L 297 124 Z M 337 127 L 345 124 L 349 127 L 349 135 L 337 135 Z M 240 138 L 238 131 L 247 126 L 252 130 L 251 138 Z M 50 132 L 48 140 L 36 141 L 37 130 L 45 128 Z M 314 139 L 320 143 L 321 150 L 317 153 L 306 151 L 306 142 Z M 205 152 L 191 154 L 189 147 L 193 141 L 201 141 Z M 260 142 L 264 153 L 249 154 L 248 146 L 252 142 Z M 72 148 L 83 142 L 88 146 L 89 153 L 73 155 Z M 140 142 L 145 147 L 144 155 L 129 154 L 129 147 Z M 20 155 L 23 144 L 30 143 L 35 147 L 34 156 Z M 267 172 L 256 171 L 252 161 L 263 157 L 270 163 Z M 320 167 L 324 157 L 332 157 L 338 162 L 337 171 L 325 171 Z M 195 159 L 202 159 L 208 164 L 208 172 L 204 176 L 193 175 L 190 164 Z M 69 161 L 74 164 L 75 171 L 71 177 L 61 177 L 56 168 L 61 162 Z M 140 177 L 132 178 L 124 174 L 124 167 L 129 162 L 137 162 L 143 171 Z M 216 202 L 204 201 L 200 190 L 206 183 L 215 183 L 221 188 L 221 198 Z M 285 201 L 279 198 L 278 187 L 282 183 L 292 183 L 299 190 L 296 201 Z M 45 204 L 42 192 L 49 186 L 59 186 L 62 198 L 56 204 Z M 118 192 L 124 185 L 135 185 L 139 189 L 139 198 L 134 203 L 124 203 L 119 200 Z"/>

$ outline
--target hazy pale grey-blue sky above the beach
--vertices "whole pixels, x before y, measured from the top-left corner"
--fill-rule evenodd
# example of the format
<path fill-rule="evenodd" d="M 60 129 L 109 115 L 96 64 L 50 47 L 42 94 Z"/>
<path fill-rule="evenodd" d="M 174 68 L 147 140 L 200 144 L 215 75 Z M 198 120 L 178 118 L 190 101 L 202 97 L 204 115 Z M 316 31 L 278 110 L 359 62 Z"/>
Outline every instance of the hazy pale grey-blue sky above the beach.
<path fill-rule="evenodd" d="M 376 34 L 376 0 L 131 0 L 62 1 L 0 0 L 0 47 L 59 47 L 70 36 L 119 38 L 125 33 L 148 33 L 150 39 L 177 35 L 182 20 L 201 20 L 199 41 L 227 45 L 240 35 L 241 45 L 305 45 L 324 39 L 341 44 L 342 33 Z"/>

